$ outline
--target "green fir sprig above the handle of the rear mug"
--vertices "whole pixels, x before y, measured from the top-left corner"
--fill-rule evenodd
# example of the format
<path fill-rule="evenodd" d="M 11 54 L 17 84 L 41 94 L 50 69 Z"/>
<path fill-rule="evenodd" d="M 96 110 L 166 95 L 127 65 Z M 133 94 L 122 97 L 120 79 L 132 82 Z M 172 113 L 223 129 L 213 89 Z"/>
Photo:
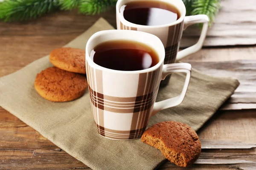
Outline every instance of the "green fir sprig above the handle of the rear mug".
<path fill-rule="evenodd" d="M 214 22 L 215 16 L 220 8 L 220 0 L 193 0 L 192 15 L 206 14 L 209 17 L 209 26 Z"/>

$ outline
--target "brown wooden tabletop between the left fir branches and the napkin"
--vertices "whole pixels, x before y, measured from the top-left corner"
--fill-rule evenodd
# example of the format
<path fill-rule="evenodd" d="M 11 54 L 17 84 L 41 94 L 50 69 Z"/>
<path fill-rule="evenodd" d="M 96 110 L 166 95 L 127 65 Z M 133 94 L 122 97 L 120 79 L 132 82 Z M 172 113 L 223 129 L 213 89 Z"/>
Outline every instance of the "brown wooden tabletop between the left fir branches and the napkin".
<path fill-rule="evenodd" d="M 66 45 L 100 17 L 115 26 L 113 8 L 95 16 L 78 14 L 77 11 L 58 11 L 37 20 L 0 23 L 0 77 L 48 55 L 54 48 Z"/>

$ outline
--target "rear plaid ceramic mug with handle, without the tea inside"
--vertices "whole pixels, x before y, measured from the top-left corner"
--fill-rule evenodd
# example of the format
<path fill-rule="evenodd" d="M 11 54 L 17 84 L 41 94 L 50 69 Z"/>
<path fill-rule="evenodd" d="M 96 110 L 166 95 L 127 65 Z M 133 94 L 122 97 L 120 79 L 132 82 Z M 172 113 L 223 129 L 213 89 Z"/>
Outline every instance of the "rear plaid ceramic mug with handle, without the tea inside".
<path fill-rule="evenodd" d="M 118 0 L 116 3 L 116 25 L 117 29 L 125 29 L 125 30 L 137 30 L 143 31 L 150 34 L 156 35 L 162 41 L 166 55 L 164 64 L 171 64 L 175 63 L 176 59 L 182 59 L 189 54 L 195 53 L 196 51 L 202 48 L 204 39 L 206 37 L 207 29 L 208 29 L 208 22 L 209 19 L 207 15 L 194 15 L 194 16 L 185 16 L 186 15 L 186 8 L 182 0 L 157 0 L 159 2 L 165 2 L 170 4 L 171 6 L 175 6 L 177 10 L 180 12 L 180 18 L 175 22 L 160 25 L 160 26 L 143 26 L 134 23 L 130 23 L 129 21 L 125 20 L 122 11 L 120 8 L 124 7 L 123 5 L 134 1 L 134 0 Z M 140 2 L 145 1 L 156 1 L 156 0 L 140 0 Z M 200 38 L 195 45 L 192 45 L 189 48 L 186 48 L 182 51 L 179 51 L 180 46 L 180 39 L 183 33 L 189 25 L 195 23 L 204 23 Z M 179 51 L 179 52 L 178 52 Z M 177 57 L 176 57 L 177 56 Z M 160 86 L 165 86 L 168 84 L 170 76 L 166 77 L 165 80 L 161 81 Z"/>

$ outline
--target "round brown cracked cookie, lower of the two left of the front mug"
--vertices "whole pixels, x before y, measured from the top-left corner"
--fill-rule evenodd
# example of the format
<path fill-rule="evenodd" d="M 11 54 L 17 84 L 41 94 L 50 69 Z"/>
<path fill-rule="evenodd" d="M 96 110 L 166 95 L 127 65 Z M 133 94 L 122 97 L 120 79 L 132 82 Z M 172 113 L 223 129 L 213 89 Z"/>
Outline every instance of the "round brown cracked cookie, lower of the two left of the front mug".
<path fill-rule="evenodd" d="M 68 102 L 85 93 L 87 80 L 84 75 L 50 67 L 37 74 L 34 85 L 35 90 L 44 99 Z"/>

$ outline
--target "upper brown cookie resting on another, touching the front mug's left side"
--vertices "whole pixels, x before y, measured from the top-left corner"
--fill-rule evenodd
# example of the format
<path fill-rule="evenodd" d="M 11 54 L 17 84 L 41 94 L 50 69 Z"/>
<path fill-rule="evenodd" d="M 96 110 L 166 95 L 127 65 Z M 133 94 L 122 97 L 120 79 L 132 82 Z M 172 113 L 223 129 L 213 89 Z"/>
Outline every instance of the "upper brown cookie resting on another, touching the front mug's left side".
<path fill-rule="evenodd" d="M 86 74 L 85 50 L 79 48 L 56 48 L 49 56 L 50 62 L 62 70 Z"/>

